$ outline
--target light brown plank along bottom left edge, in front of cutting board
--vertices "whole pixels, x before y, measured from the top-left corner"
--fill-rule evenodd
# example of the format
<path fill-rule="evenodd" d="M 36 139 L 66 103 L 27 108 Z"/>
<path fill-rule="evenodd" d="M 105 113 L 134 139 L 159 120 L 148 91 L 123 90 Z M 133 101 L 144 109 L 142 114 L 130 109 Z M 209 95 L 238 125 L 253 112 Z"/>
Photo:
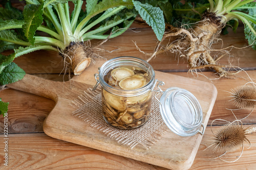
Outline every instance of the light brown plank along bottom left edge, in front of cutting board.
<path fill-rule="evenodd" d="M 4 148 L 1 135 L 0 148 Z M 8 166 L 0 169 L 155 169 L 165 168 L 58 140 L 44 133 L 9 135 Z"/>

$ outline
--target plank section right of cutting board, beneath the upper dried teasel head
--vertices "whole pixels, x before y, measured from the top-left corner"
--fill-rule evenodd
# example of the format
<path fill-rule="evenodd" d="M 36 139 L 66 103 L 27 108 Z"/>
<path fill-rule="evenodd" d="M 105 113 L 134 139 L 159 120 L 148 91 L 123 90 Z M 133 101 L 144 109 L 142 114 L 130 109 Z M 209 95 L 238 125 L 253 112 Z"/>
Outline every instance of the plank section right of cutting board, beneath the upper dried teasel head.
<path fill-rule="evenodd" d="M 246 71 L 246 72 L 244 72 L 244 71 L 240 72 L 239 75 L 237 75 L 237 77 L 235 77 L 233 79 L 225 79 L 224 78 L 224 79 L 211 80 L 211 81 L 209 79 L 218 78 L 211 72 L 202 72 L 202 74 L 204 74 L 204 76 L 198 75 L 199 77 L 197 77 L 197 75 L 193 76 L 190 73 L 185 73 L 185 72 L 179 72 L 179 73 L 173 72 L 172 74 L 184 76 L 184 77 L 188 77 L 188 78 L 192 78 L 192 79 L 197 79 L 197 80 L 201 80 L 201 81 L 211 82 L 212 84 L 214 84 L 216 86 L 216 88 L 218 90 L 218 95 L 217 95 L 217 99 L 216 99 L 214 108 L 212 109 L 212 113 L 211 113 L 211 116 L 210 116 L 210 119 L 208 122 L 208 126 L 209 126 L 211 124 L 212 120 L 217 119 L 217 118 L 222 118 L 222 119 L 228 120 L 230 122 L 235 120 L 235 117 L 233 116 L 232 112 L 230 110 L 226 109 L 226 108 L 236 109 L 236 107 L 234 107 L 230 102 L 227 102 L 228 100 L 230 100 L 229 92 L 231 92 L 231 89 L 235 89 L 236 87 L 242 86 L 245 83 L 247 83 L 248 81 L 250 81 L 247 74 L 250 76 L 252 81 L 256 82 L 256 71 L 251 70 L 251 71 Z M 208 87 L 202 86 L 202 88 L 208 88 Z M 238 119 L 241 119 L 241 118 L 244 118 L 245 116 L 247 116 L 250 113 L 250 110 L 237 110 L 237 111 L 233 111 L 233 112 L 237 116 Z M 243 119 L 243 123 L 244 124 L 255 124 L 256 123 L 255 110 L 251 113 L 251 115 L 249 117 L 247 117 L 246 119 Z M 221 125 L 221 124 L 223 124 L 222 121 L 221 122 L 216 121 L 214 123 L 214 125 Z"/>

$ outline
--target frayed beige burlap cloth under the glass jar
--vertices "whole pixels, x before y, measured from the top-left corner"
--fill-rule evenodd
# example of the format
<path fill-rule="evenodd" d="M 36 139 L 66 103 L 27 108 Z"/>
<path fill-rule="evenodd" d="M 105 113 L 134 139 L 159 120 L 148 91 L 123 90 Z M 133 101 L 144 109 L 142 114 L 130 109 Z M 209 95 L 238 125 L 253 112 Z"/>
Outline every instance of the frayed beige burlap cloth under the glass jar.
<path fill-rule="evenodd" d="M 120 130 L 110 126 L 102 116 L 101 88 L 95 91 L 91 88 L 84 91 L 77 100 L 73 101 L 77 110 L 73 116 L 83 120 L 93 128 L 97 128 L 118 143 L 130 146 L 132 149 L 141 144 L 149 149 L 168 130 L 160 114 L 159 103 L 153 98 L 150 118 L 140 128 L 133 130 Z"/>

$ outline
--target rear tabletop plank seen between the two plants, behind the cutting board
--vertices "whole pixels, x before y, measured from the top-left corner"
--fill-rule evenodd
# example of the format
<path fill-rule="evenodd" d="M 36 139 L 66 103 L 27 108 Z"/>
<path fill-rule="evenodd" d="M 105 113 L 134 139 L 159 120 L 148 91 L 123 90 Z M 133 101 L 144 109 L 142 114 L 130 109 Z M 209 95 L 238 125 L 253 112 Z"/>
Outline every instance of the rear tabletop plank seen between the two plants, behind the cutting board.
<path fill-rule="evenodd" d="M 141 28 L 142 27 L 142 28 Z M 99 54 L 107 59 L 118 56 L 135 56 L 146 60 L 148 57 L 139 52 L 133 41 L 136 41 L 137 45 L 145 53 L 152 53 L 156 45 L 156 36 L 150 27 L 140 26 L 137 23 L 133 23 L 131 26 L 133 31 L 126 31 L 121 36 L 110 39 L 105 42 L 101 47 L 108 51 L 116 50 L 112 53 L 105 51 L 99 52 Z M 223 48 L 227 46 L 244 47 L 247 44 L 243 27 L 240 26 L 237 33 L 233 33 L 229 30 L 229 34 L 221 35 L 223 39 Z M 92 40 L 92 44 L 97 44 L 98 40 Z M 222 42 L 214 45 L 216 49 L 220 49 Z M 119 49 L 119 50 L 117 50 Z M 230 50 L 230 48 L 228 48 Z M 10 54 L 11 51 L 4 54 Z M 244 49 L 232 48 L 230 52 L 233 57 L 224 57 L 220 60 L 221 64 L 229 65 L 228 61 L 232 61 L 232 65 L 240 66 L 241 68 L 255 69 L 256 58 L 255 51 L 251 47 Z M 22 57 L 18 57 L 14 60 L 20 67 L 22 67 L 27 74 L 59 74 L 63 73 L 62 58 L 57 52 L 53 51 L 39 51 L 33 52 Z M 159 54 L 156 58 L 150 61 L 155 70 L 160 71 L 172 71 L 181 72 L 188 70 L 187 61 L 179 58 L 178 55 L 172 53 Z M 209 71 L 209 69 L 206 69 Z"/>

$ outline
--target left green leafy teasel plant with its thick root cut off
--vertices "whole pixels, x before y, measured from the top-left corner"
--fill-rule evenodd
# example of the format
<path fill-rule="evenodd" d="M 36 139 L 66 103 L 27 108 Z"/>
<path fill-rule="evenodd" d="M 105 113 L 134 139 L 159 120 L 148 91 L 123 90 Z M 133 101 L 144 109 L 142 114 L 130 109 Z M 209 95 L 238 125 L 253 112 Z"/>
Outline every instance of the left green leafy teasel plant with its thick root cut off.
<path fill-rule="evenodd" d="M 0 8 L 0 52 L 14 50 L 8 56 L 0 55 L 0 85 L 22 79 L 26 73 L 13 60 L 37 50 L 58 52 L 63 57 L 65 70 L 81 74 L 92 58 L 97 57 L 95 52 L 102 44 L 92 46 L 90 40 L 121 35 L 138 14 L 152 27 L 158 40 L 164 34 L 162 10 L 139 1 L 25 1 L 23 11 L 12 7 L 10 2 Z M 72 12 L 70 3 L 74 4 Z M 86 9 L 82 9 L 83 3 Z"/>

